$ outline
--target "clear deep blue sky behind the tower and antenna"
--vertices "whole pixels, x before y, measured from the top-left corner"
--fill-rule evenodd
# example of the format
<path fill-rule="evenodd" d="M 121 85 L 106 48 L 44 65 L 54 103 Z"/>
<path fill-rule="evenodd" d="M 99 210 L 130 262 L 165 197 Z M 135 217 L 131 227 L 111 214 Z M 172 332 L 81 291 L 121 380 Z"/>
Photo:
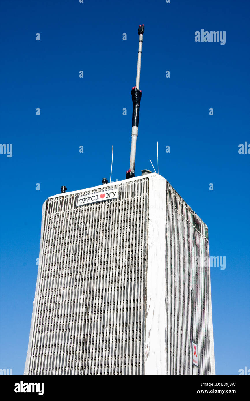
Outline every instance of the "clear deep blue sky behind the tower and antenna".
<path fill-rule="evenodd" d="M 0 155 L 0 368 L 24 371 L 43 202 L 61 185 L 109 178 L 112 145 L 112 178 L 125 178 L 145 24 L 136 175 L 152 170 L 149 158 L 157 165 L 158 140 L 160 174 L 208 225 L 210 255 L 226 256 L 225 270 L 211 267 L 216 373 L 249 369 L 250 154 L 238 153 L 250 143 L 249 2 L 16 0 L 0 9 L 0 143 L 13 144 L 12 158 Z M 226 45 L 196 43 L 201 29 L 226 31 Z"/>

